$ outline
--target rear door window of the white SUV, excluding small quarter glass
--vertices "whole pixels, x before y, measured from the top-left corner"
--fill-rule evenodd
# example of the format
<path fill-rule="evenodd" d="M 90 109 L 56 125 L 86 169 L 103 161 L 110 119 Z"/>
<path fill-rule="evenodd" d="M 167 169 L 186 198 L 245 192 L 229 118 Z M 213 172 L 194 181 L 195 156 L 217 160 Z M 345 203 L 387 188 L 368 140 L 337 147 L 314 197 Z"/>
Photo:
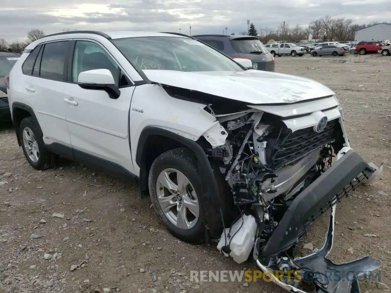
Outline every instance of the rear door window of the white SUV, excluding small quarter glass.
<path fill-rule="evenodd" d="M 69 46 L 70 41 L 45 44 L 41 58 L 40 77 L 66 81 Z"/>

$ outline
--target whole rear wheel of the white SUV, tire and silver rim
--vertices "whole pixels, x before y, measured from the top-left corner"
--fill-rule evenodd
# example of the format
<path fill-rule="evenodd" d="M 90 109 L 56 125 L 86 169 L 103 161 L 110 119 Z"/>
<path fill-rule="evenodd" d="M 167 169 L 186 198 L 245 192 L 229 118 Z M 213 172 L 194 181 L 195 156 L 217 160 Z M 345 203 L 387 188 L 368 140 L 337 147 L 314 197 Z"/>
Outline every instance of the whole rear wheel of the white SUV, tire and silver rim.
<path fill-rule="evenodd" d="M 22 150 L 29 164 L 36 170 L 46 170 L 56 164 L 57 156 L 45 148 L 38 122 L 27 117 L 19 126 Z"/>

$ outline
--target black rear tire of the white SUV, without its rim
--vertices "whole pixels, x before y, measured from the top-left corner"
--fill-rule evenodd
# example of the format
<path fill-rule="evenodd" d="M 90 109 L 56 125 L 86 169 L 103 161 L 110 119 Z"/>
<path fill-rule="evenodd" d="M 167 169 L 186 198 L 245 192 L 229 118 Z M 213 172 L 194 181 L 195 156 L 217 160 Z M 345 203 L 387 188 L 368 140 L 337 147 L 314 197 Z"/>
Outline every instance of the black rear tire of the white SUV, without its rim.
<path fill-rule="evenodd" d="M 36 162 L 32 161 L 29 158 L 29 155 L 27 154 L 25 145 L 23 143 L 23 131 L 25 128 L 29 128 L 32 131 L 32 135 L 34 135 L 34 137 L 36 138 L 39 150 L 39 158 Z M 52 168 L 56 164 L 57 155 L 53 154 L 52 152 L 49 152 L 45 148 L 45 143 L 43 142 L 43 134 L 41 128 L 39 127 L 38 121 L 36 121 L 32 117 L 24 118 L 19 126 L 19 135 L 21 139 L 23 153 L 25 154 L 25 157 L 29 164 L 32 166 L 32 168 L 36 170 L 46 170 L 48 168 Z"/>

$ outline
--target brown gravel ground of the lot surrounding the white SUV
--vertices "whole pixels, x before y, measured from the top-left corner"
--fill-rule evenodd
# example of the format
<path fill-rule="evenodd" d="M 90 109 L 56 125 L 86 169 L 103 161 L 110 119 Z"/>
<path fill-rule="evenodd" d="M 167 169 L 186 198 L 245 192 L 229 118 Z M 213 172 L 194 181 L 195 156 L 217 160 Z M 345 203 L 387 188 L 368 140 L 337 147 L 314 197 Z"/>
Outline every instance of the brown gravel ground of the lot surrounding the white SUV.
<path fill-rule="evenodd" d="M 382 284 L 364 282 L 364 292 L 391 287 L 390 61 L 376 55 L 276 57 L 277 72 L 332 88 L 353 148 L 369 162 L 385 163 L 380 181 L 360 186 L 337 206 L 332 259 L 369 254 L 381 262 Z M 0 174 L 0 293 L 285 292 L 262 281 L 190 282 L 190 270 L 255 267 L 222 257 L 214 246 L 178 241 L 150 202 L 140 201 L 135 185 L 69 161 L 45 172 L 32 169 L 11 125 L 0 129 Z M 307 244 L 321 247 L 326 222 L 312 227 Z"/>

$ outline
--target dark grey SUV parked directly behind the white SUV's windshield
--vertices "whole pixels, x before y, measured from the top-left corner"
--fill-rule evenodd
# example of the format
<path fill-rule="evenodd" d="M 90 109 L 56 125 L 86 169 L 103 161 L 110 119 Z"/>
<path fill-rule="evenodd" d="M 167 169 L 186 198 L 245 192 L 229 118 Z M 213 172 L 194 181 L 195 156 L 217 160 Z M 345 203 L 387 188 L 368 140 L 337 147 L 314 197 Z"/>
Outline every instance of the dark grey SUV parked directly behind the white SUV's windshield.
<path fill-rule="evenodd" d="M 274 72 L 274 56 L 253 36 L 195 35 L 192 36 L 221 51 L 232 59 L 249 59 L 253 69 Z"/>

